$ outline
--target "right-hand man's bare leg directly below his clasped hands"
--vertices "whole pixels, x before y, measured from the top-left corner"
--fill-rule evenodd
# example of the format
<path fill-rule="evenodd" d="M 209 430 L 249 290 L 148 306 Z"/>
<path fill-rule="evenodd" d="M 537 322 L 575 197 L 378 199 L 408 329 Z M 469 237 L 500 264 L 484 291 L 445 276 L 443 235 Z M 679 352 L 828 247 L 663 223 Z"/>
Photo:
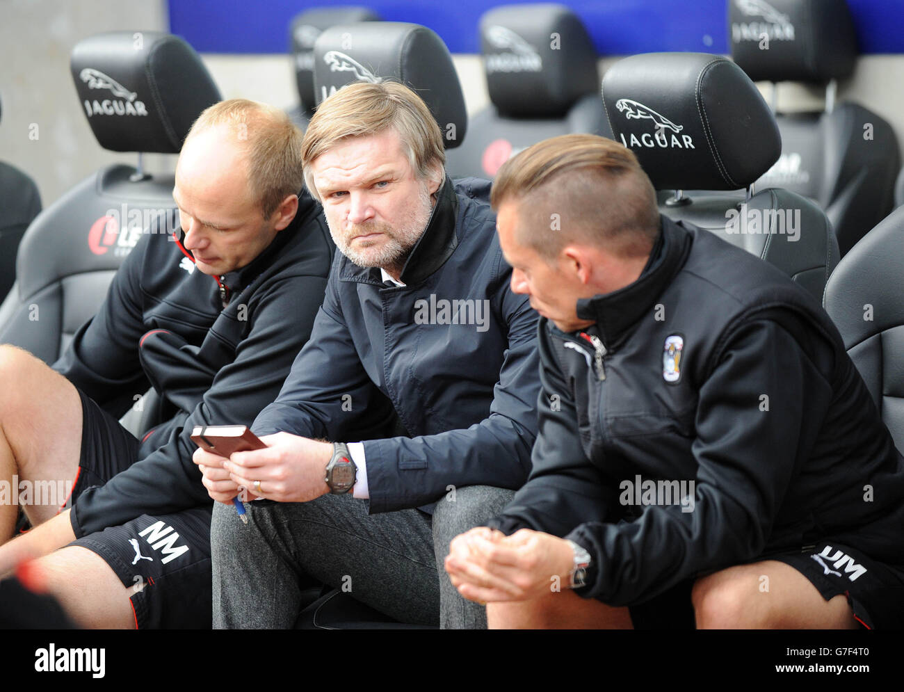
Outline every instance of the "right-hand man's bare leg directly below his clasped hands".
<path fill-rule="evenodd" d="M 572 591 L 551 592 L 530 601 L 486 604 L 490 630 L 631 630 L 627 608 L 613 608 Z"/>

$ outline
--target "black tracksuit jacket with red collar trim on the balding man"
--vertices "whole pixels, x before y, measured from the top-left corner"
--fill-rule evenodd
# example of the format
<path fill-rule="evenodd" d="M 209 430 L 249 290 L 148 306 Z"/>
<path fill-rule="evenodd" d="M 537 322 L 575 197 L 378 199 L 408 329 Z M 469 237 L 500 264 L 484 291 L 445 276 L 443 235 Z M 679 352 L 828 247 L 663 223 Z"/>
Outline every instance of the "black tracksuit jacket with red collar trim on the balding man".
<path fill-rule="evenodd" d="M 139 461 L 75 502 L 76 536 L 209 505 L 192 463 L 193 426 L 250 425 L 276 398 L 323 302 L 334 245 L 306 193 L 268 248 L 221 278 L 195 270 L 178 235 L 145 234 L 53 365 L 117 416 L 148 382 L 165 401 L 165 422 L 142 435 Z"/>

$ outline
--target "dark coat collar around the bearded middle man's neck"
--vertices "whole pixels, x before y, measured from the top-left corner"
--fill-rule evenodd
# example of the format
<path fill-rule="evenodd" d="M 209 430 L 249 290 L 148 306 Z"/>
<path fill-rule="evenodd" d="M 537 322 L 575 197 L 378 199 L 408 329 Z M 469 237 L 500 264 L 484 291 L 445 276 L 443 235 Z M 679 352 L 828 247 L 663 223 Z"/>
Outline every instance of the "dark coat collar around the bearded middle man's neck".
<path fill-rule="evenodd" d="M 403 284 L 411 286 L 426 280 L 452 256 L 458 247 L 457 218 L 458 196 L 451 178 L 446 175 L 437 191 L 437 204 L 433 205 L 427 226 L 402 267 L 399 280 Z M 342 261 L 344 268 L 340 279 L 382 284 L 379 267 L 359 267 L 345 257 Z"/>

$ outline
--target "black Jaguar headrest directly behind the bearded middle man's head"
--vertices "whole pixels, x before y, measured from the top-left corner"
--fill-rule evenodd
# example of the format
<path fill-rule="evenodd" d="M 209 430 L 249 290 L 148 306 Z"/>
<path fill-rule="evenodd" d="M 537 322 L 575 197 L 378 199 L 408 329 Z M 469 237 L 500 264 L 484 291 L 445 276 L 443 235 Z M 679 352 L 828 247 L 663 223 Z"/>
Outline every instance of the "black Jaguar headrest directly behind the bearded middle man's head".
<path fill-rule="evenodd" d="M 419 24 L 364 22 L 326 29 L 314 46 L 319 104 L 353 81 L 394 79 L 415 90 L 443 132 L 446 148 L 465 138 L 467 111 L 446 44 Z"/>

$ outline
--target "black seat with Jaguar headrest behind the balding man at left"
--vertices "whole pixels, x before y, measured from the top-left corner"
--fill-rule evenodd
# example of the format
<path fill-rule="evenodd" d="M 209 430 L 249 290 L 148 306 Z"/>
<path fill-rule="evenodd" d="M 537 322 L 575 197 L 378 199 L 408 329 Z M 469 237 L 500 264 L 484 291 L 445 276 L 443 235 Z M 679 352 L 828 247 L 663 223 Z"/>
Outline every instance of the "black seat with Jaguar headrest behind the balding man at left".
<path fill-rule="evenodd" d="M 220 100 L 198 54 L 168 33 L 92 36 L 73 48 L 71 71 L 79 108 L 111 151 L 175 154 L 202 109 Z M 46 208 L 20 245 L 16 285 L 0 306 L 0 343 L 55 361 L 142 233 L 172 232 L 172 193 L 173 175 L 115 165 Z"/>

